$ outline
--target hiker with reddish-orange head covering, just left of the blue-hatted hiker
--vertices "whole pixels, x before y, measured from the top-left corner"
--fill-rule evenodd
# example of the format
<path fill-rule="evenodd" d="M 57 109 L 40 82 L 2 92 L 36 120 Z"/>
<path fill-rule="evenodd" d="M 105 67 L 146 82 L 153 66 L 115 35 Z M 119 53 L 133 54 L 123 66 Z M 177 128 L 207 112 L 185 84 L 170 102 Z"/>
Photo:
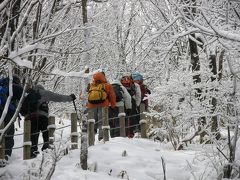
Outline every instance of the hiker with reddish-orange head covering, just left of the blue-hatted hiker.
<path fill-rule="evenodd" d="M 132 110 L 127 113 L 126 125 L 127 125 L 127 135 L 132 138 L 134 136 L 134 132 L 140 129 L 139 121 L 139 106 L 141 103 L 141 90 L 140 86 L 133 82 L 131 75 L 125 75 L 121 78 L 122 85 L 127 89 L 128 93 L 131 95 L 132 102 Z"/>

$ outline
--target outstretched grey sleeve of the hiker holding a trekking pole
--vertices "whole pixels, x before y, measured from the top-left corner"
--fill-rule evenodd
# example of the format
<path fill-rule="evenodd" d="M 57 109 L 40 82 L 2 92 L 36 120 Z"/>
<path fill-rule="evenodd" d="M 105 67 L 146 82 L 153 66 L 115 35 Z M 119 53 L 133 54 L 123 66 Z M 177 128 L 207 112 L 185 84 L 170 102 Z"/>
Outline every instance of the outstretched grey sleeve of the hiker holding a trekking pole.
<path fill-rule="evenodd" d="M 71 96 L 57 94 L 48 90 L 39 90 L 41 95 L 41 101 L 53 101 L 53 102 L 70 102 L 72 101 Z"/>

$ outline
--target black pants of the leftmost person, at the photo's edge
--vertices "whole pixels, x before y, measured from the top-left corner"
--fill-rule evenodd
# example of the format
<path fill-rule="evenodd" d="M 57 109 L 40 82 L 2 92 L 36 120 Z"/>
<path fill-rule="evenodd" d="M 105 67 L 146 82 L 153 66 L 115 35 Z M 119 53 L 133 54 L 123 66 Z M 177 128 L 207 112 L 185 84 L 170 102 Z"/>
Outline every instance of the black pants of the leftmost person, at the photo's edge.
<path fill-rule="evenodd" d="M 5 119 L 4 119 L 4 126 L 6 126 L 10 120 L 12 119 L 14 112 L 8 111 Z M 2 111 L 0 112 L 0 117 L 2 116 Z M 12 148 L 14 146 L 14 123 L 7 129 L 5 134 L 5 155 L 11 156 L 12 155 Z"/>

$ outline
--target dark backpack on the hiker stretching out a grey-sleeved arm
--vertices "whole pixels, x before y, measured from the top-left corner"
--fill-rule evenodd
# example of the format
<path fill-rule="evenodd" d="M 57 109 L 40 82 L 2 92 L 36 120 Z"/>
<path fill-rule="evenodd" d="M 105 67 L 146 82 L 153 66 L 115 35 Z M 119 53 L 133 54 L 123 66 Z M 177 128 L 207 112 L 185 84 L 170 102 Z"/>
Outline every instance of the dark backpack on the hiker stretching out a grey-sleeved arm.
<path fill-rule="evenodd" d="M 41 95 L 37 90 L 30 89 L 28 91 L 27 96 L 25 97 L 22 107 L 20 110 L 20 113 L 25 116 L 27 114 L 36 112 L 38 110 L 44 111 L 48 113 L 48 103 L 47 102 L 42 102 L 41 104 L 39 103 L 39 100 L 41 99 Z"/>

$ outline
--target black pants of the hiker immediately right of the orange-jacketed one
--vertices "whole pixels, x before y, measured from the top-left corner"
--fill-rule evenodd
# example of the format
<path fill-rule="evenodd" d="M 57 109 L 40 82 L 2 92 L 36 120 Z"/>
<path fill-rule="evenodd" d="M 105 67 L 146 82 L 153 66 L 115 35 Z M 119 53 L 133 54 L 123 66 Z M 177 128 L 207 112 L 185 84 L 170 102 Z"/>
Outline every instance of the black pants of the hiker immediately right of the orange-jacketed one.
<path fill-rule="evenodd" d="M 112 138 L 120 136 L 120 124 L 119 124 L 118 114 L 119 114 L 118 107 L 109 108 L 109 125 L 110 125 L 110 135 Z"/>

